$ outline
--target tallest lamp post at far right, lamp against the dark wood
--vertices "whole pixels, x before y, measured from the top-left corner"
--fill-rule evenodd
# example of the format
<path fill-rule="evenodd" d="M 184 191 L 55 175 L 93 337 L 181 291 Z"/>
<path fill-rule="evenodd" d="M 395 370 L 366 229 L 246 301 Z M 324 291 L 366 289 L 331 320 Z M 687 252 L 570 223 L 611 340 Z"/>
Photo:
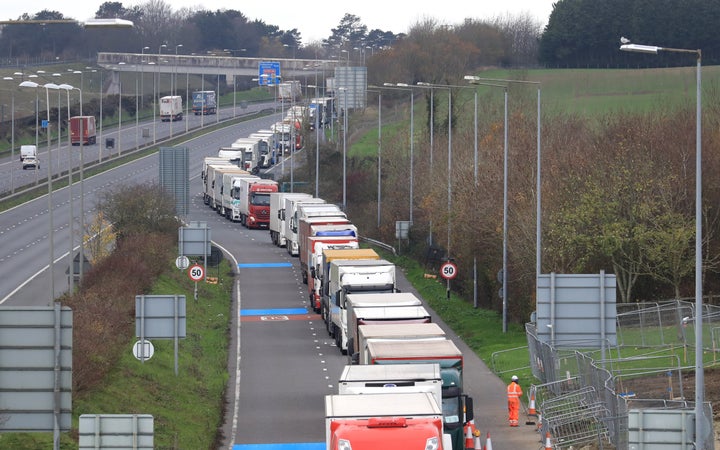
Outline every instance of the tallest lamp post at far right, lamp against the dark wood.
<path fill-rule="evenodd" d="M 703 298 L 702 298 L 702 51 L 700 49 L 668 48 L 632 44 L 620 38 L 620 50 L 625 52 L 691 53 L 697 57 L 695 91 L 695 448 L 705 450 L 705 373 L 703 365 Z"/>

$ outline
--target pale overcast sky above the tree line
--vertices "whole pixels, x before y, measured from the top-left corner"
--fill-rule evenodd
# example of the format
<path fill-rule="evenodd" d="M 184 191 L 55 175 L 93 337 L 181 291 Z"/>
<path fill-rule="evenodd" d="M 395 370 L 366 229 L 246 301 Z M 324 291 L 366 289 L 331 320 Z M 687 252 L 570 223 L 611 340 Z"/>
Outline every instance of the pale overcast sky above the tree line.
<path fill-rule="evenodd" d="M 147 0 L 119 0 L 123 6 L 132 7 L 147 3 Z M 166 0 L 172 9 L 188 7 L 215 11 L 218 9 L 235 9 L 243 13 L 249 20 L 260 19 L 266 24 L 277 25 L 282 30 L 297 28 L 301 33 L 303 44 L 325 39 L 331 29 L 338 26 L 343 16 L 354 14 L 367 26 L 368 31 L 380 29 L 395 34 L 406 33 L 410 26 L 426 18 L 433 18 L 439 24 L 456 25 L 465 18 L 491 19 L 498 16 L 529 15 L 542 26 L 547 24 L 552 5 L 557 0 L 504 0 L 468 2 L 467 0 L 416 0 L 414 2 L 377 0 L 345 1 L 289 1 L 289 0 Z M 17 19 L 24 13 L 31 16 L 49 9 L 58 11 L 65 17 L 85 20 L 93 17 L 104 0 L 75 0 L 68 2 L 22 2 L 6 0 L 2 2 L 0 18 L 3 20 Z M 412 7 L 408 7 L 412 5 Z M 468 5 L 473 7 L 468 8 Z"/>

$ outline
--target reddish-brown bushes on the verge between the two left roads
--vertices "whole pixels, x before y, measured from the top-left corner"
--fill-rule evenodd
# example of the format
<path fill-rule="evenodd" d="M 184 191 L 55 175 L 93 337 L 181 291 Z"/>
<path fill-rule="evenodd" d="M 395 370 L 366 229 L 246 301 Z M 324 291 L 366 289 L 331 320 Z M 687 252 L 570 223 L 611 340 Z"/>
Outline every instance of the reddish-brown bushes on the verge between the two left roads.
<path fill-rule="evenodd" d="M 82 392 L 112 369 L 134 333 L 135 296 L 147 293 L 175 256 L 172 205 L 157 186 L 109 193 L 103 213 L 121 240 L 115 252 L 86 274 L 80 289 L 61 301 L 73 310 L 73 389 Z"/>

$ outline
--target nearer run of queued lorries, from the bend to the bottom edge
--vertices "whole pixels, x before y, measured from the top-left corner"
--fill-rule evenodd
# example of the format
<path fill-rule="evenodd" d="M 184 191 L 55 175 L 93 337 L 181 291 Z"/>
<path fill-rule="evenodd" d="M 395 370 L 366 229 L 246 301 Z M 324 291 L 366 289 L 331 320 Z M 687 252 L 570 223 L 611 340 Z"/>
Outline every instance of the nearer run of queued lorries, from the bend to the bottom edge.
<path fill-rule="evenodd" d="M 474 414 L 462 352 L 399 291 L 395 265 L 359 248 L 337 205 L 287 192 L 269 205 L 272 243 L 298 256 L 310 305 L 348 357 L 325 397 L 327 449 L 464 450 Z"/>

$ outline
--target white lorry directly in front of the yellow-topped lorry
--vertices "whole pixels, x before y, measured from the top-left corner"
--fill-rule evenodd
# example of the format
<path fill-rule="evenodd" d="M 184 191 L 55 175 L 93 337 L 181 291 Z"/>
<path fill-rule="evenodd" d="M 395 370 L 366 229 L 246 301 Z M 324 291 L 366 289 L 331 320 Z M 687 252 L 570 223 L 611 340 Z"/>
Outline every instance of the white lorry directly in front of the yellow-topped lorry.
<path fill-rule="evenodd" d="M 344 355 L 348 348 L 346 296 L 396 292 L 395 264 L 384 259 L 334 260 L 330 262 L 327 281 L 331 335 Z"/>

